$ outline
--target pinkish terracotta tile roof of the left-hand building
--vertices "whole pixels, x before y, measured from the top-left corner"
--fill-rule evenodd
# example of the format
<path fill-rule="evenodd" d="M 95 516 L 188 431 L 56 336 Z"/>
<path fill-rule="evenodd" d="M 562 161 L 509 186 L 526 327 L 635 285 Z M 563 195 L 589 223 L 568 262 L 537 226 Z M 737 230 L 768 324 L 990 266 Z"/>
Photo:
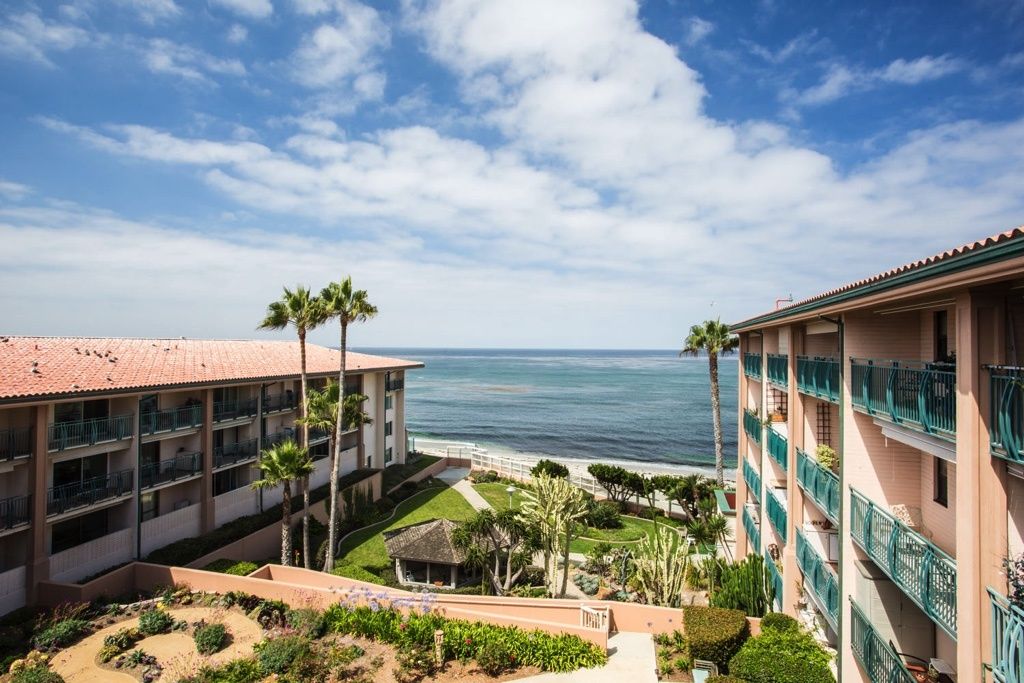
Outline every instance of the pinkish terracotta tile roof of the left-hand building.
<path fill-rule="evenodd" d="M 306 344 L 311 375 L 337 373 L 341 353 Z M 423 364 L 348 352 L 351 372 Z M 298 341 L 0 337 L 0 399 L 261 381 L 299 375 Z"/>

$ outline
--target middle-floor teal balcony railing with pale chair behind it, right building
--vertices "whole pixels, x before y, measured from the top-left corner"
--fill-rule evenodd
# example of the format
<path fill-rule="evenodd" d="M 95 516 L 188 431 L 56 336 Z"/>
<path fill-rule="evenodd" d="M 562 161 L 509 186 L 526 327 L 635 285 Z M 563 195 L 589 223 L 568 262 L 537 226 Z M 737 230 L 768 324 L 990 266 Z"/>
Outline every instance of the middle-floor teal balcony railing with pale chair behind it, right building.
<path fill-rule="evenodd" d="M 850 536 L 933 622 L 956 638 L 956 560 L 853 488 Z"/>

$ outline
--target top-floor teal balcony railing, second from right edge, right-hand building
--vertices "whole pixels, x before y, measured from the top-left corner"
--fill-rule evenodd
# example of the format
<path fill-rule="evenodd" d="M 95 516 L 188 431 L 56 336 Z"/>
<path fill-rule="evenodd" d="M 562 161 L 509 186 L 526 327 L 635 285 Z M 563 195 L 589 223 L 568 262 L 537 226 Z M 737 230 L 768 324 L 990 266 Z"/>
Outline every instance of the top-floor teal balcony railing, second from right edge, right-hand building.
<path fill-rule="evenodd" d="M 956 438 L 956 369 L 948 364 L 851 358 L 855 408 L 926 434 Z"/>

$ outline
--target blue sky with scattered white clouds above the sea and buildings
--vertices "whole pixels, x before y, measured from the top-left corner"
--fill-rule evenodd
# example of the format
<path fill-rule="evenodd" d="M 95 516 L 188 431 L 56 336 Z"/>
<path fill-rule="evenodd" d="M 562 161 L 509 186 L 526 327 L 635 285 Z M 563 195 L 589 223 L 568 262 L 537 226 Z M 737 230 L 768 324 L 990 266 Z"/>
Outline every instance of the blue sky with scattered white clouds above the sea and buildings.
<path fill-rule="evenodd" d="M 1024 223 L 1022 86 L 1020 0 L 12 0 L 3 332 L 674 347 Z"/>

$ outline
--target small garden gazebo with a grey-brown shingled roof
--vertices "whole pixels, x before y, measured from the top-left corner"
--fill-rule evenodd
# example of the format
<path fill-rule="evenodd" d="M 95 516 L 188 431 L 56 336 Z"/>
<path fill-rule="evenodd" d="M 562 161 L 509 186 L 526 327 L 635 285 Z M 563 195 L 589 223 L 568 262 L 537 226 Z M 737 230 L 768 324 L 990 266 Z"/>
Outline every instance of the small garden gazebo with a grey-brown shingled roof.
<path fill-rule="evenodd" d="M 458 524 L 451 519 L 429 519 L 384 532 L 384 547 L 394 560 L 398 583 L 406 586 L 456 588 L 476 578 L 463 567 L 466 553 L 452 541 Z"/>

